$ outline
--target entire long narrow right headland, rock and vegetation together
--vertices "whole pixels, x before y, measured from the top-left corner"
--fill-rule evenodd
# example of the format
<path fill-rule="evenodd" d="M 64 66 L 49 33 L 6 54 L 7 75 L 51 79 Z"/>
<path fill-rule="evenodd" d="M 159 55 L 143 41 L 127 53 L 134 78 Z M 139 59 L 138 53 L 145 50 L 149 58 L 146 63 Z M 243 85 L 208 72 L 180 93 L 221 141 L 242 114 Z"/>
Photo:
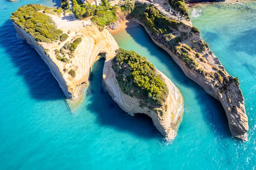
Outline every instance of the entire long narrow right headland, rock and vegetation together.
<path fill-rule="evenodd" d="M 146 15 L 141 14 L 145 12 L 155 16 L 144 17 Z M 153 6 L 139 4 L 136 4 L 131 16 L 145 28 L 155 44 L 170 54 L 187 77 L 221 102 L 231 134 L 247 141 L 248 118 L 238 78 L 226 72 L 189 18 L 183 22 L 171 20 L 159 14 Z M 157 29 L 152 28 L 151 23 Z M 166 30 L 160 32 L 161 29 Z"/>

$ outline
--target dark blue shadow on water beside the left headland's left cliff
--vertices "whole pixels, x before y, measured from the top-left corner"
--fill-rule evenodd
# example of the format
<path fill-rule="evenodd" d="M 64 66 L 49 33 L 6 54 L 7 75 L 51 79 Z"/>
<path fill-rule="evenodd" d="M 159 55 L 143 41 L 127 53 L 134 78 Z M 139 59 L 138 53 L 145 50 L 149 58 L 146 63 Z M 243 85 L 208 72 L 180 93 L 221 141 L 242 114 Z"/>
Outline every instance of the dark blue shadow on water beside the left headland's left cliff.
<path fill-rule="evenodd" d="M 7 20 L 0 27 L 0 46 L 18 68 L 17 74 L 24 78 L 30 96 L 38 100 L 64 99 L 65 96 L 37 51 L 26 41 L 16 37 L 12 21 Z"/>

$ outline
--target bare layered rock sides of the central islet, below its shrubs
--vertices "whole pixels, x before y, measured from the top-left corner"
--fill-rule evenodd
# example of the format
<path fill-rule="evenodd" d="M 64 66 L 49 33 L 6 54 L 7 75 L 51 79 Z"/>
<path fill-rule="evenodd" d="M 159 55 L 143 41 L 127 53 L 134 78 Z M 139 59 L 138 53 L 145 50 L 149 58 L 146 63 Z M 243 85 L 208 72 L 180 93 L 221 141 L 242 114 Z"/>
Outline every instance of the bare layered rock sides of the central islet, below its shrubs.
<path fill-rule="evenodd" d="M 106 60 L 103 69 L 103 81 L 113 100 L 125 112 L 131 114 L 144 113 L 152 118 L 155 127 L 169 140 L 177 135 L 177 130 L 183 116 L 183 97 L 180 90 L 162 72 L 158 71 L 167 85 L 168 96 L 162 107 L 150 109 L 140 105 L 140 99 L 122 92 L 116 80 L 116 74 L 111 67 L 111 60 Z"/>

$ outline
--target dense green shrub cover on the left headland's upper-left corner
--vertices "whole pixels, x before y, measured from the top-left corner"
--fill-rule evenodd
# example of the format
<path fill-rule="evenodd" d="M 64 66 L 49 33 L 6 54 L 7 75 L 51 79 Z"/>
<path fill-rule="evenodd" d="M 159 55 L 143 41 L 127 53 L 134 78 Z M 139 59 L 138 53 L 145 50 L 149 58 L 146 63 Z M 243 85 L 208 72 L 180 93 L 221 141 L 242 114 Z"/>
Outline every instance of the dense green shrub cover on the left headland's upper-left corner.
<path fill-rule="evenodd" d="M 55 23 L 48 15 L 38 12 L 44 9 L 48 7 L 35 4 L 25 5 L 12 13 L 11 20 L 32 35 L 36 41 L 58 40 L 62 30 L 56 29 Z"/>

